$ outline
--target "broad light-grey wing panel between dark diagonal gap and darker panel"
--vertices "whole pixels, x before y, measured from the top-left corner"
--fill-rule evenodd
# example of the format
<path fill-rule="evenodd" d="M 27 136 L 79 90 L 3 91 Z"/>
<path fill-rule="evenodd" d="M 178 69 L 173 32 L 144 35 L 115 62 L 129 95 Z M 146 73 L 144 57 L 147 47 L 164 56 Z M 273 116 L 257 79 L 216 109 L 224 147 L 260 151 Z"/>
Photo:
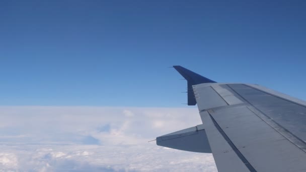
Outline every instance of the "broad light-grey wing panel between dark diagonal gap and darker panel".
<path fill-rule="evenodd" d="M 303 171 L 306 153 L 247 106 L 210 111 L 223 132 L 256 171 Z M 207 131 L 208 132 L 208 131 Z"/>

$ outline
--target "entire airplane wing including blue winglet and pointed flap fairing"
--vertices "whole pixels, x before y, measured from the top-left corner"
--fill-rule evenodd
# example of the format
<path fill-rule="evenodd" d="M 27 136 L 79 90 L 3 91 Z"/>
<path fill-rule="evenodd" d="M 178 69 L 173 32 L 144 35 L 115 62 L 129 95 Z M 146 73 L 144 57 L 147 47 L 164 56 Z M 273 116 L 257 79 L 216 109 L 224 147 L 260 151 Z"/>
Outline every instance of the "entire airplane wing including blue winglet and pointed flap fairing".
<path fill-rule="evenodd" d="M 218 171 L 306 171 L 306 102 L 257 84 L 217 83 L 173 66 L 202 124 L 157 145 L 212 153 Z M 203 162 L 205 163 L 205 162 Z"/>

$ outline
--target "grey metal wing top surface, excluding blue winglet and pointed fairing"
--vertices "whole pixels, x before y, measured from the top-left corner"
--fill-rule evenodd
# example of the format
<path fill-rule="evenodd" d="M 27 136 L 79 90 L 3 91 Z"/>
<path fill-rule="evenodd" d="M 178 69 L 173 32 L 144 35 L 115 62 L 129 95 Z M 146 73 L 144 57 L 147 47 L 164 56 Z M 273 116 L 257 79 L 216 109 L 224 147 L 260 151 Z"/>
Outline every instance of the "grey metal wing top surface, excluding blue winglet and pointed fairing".
<path fill-rule="evenodd" d="M 306 107 L 289 96 L 252 86 L 203 83 L 193 87 L 199 97 L 206 95 L 197 103 L 218 170 L 238 171 L 228 170 L 229 158 L 237 158 L 224 153 L 234 152 L 248 171 L 306 171 Z M 211 120 L 203 115 L 207 112 L 201 111 L 202 102 L 207 105 L 210 100 L 214 106 L 205 110 L 219 130 L 211 129 Z M 224 140 L 231 144 L 223 144 Z"/>

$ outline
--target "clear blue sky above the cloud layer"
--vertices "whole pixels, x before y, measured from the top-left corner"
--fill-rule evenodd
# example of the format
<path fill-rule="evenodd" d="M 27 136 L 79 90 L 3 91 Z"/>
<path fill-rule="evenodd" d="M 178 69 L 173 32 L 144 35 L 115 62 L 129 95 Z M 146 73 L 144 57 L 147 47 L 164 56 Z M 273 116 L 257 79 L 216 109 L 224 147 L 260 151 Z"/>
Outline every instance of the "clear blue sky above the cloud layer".
<path fill-rule="evenodd" d="M 182 107 L 182 65 L 306 99 L 306 1 L 0 1 L 0 105 Z"/>

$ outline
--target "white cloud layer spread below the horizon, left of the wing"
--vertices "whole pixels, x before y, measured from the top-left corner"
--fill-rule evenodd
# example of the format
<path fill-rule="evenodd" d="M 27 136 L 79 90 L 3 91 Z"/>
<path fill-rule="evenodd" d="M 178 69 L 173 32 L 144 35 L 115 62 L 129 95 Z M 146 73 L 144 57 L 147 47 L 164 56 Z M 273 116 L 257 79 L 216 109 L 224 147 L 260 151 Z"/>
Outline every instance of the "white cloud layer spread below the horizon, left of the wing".
<path fill-rule="evenodd" d="M 216 171 L 211 154 L 147 142 L 200 124 L 197 109 L 0 107 L 0 112 L 4 171 Z"/>

